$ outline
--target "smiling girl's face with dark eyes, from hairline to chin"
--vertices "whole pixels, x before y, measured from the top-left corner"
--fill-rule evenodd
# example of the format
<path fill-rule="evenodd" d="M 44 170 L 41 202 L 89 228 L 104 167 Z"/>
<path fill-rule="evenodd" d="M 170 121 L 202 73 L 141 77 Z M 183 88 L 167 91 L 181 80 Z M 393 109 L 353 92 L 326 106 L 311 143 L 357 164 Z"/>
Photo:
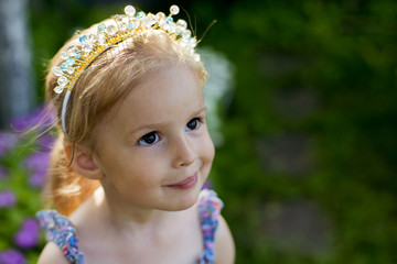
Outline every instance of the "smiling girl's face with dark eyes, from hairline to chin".
<path fill-rule="evenodd" d="M 94 161 L 111 206 L 172 211 L 194 205 L 214 145 L 193 70 L 175 66 L 149 75 L 104 118 L 97 133 Z"/>

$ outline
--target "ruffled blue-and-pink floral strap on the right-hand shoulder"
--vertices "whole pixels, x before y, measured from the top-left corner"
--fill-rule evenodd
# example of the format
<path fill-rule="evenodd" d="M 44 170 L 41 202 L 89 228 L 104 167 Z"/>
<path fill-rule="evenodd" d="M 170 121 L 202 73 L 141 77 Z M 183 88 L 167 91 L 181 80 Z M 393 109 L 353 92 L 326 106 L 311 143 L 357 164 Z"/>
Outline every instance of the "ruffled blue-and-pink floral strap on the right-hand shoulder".
<path fill-rule="evenodd" d="M 200 194 L 197 207 L 204 238 L 204 253 L 197 264 L 214 263 L 214 239 L 223 206 L 224 204 L 215 191 L 204 189 Z"/>

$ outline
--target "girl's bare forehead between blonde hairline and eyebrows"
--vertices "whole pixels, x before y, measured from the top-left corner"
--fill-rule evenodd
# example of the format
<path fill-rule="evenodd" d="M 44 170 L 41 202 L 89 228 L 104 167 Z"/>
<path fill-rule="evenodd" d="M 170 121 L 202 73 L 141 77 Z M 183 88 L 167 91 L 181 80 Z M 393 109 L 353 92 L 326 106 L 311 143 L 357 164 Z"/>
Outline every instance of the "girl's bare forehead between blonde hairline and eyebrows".
<path fill-rule="evenodd" d="M 198 74 L 182 65 L 162 67 L 148 75 L 117 107 L 108 120 L 115 129 L 172 122 L 203 108 Z"/>

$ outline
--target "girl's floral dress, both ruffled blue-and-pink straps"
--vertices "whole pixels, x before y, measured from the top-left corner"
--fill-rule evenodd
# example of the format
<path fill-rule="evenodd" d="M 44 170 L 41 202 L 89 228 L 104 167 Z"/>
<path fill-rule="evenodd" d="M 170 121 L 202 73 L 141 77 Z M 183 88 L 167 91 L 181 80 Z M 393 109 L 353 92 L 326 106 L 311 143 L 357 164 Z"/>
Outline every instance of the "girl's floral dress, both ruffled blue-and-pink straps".
<path fill-rule="evenodd" d="M 222 207 L 223 202 L 215 191 L 204 189 L 200 193 L 197 208 L 204 252 L 197 264 L 214 263 L 214 239 Z M 78 239 L 72 222 L 56 210 L 42 210 L 36 213 L 36 217 L 41 227 L 44 228 L 46 240 L 57 244 L 71 263 L 83 264 L 84 253 L 78 249 Z"/>

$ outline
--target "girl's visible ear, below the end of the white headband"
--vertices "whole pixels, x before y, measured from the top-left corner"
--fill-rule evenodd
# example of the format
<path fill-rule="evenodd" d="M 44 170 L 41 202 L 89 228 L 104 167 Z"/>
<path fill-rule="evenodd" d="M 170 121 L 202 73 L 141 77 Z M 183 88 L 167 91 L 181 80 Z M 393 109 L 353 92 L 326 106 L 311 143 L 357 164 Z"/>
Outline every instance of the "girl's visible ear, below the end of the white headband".
<path fill-rule="evenodd" d="M 82 176 L 90 179 L 101 179 L 103 173 L 96 164 L 92 151 L 82 145 L 76 145 L 75 148 L 71 145 L 65 146 L 67 158 L 72 162 L 72 167 Z"/>

